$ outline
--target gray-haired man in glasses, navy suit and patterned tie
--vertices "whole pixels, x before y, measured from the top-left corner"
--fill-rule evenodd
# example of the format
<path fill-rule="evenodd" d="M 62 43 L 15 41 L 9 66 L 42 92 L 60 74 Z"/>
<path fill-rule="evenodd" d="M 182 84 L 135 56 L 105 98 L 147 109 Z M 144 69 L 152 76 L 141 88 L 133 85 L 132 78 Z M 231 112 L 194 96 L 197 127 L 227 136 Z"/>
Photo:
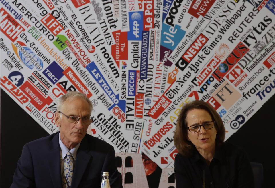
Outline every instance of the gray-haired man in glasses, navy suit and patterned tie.
<path fill-rule="evenodd" d="M 122 188 L 114 148 L 86 133 L 91 111 L 83 93 L 60 97 L 55 113 L 60 131 L 24 145 L 11 188 L 99 188 L 102 172 L 109 172 L 112 188 Z"/>

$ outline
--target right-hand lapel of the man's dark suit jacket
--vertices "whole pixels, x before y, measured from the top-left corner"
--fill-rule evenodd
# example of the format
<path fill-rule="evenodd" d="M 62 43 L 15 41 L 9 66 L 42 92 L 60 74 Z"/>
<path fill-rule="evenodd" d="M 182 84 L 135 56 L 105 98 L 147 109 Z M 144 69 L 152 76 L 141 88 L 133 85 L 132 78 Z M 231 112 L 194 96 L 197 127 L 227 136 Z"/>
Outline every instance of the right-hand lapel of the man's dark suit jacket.
<path fill-rule="evenodd" d="M 80 146 L 78 148 L 78 152 L 76 155 L 71 188 L 78 187 L 89 161 L 92 160 L 91 153 L 92 152 L 90 150 L 87 138 L 85 136 L 80 143 Z"/>

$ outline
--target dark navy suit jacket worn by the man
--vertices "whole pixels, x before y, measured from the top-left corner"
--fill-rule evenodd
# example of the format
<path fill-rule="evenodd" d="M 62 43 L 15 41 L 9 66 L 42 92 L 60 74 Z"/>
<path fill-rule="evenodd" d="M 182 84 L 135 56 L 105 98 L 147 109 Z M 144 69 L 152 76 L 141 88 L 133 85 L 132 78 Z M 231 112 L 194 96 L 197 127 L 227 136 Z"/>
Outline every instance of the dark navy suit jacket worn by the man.
<path fill-rule="evenodd" d="M 11 188 L 62 188 L 59 132 L 24 145 Z M 86 134 L 78 148 L 71 188 L 100 188 L 102 172 L 109 172 L 112 188 L 122 188 L 114 148 Z"/>

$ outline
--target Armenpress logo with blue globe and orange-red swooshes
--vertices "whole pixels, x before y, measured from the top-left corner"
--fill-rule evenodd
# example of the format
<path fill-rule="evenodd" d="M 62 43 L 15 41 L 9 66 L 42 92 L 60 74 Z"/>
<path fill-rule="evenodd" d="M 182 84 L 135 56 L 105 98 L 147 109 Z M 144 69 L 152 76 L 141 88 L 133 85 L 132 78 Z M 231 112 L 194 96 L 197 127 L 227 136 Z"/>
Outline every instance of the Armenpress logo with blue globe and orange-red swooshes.
<path fill-rule="evenodd" d="M 15 55 L 24 63 L 28 68 L 33 69 L 36 67 L 39 71 L 43 68 L 43 61 L 23 42 L 11 43 Z"/>

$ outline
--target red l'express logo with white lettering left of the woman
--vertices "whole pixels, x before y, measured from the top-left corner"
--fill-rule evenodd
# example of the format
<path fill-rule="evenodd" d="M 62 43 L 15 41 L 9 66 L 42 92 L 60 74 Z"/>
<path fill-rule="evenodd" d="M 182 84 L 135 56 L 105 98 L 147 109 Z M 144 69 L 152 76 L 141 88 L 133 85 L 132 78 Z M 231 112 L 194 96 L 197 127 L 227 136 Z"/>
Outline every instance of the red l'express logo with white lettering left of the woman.
<path fill-rule="evenodd" d="M 148 148 L 151 149 L 150 147 L 154 147 L 154 145 L 157 142 L 160 142 L 160 139 L 166 135 L 166 133 L 173 128 L 173 125 L 168 121 L 165 125 L 162 126 L 162 128 L 160 128 L 160 130 L 154 134 L 154 136 L 152 136 L 152 138 L 150 138 L 147 142 L 144 142 L 143 144 Z M 150 146 L 148 146 L 148 145 Z"/>

